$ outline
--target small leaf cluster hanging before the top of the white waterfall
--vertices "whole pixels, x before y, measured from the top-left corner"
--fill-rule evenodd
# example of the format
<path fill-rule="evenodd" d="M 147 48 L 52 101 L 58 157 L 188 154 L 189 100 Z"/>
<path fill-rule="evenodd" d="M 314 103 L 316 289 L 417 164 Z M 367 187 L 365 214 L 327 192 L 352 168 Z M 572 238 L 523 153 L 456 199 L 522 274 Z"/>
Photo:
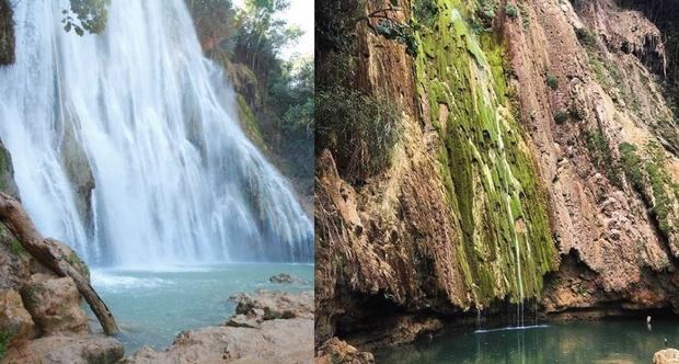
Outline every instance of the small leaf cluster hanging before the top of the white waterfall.
<path fill-rule="evenodd" d="M 64 30 L 82 36 L 85 31 L 100 34 L 106 27 L 111 0 L 70 0 L 70 9 L 64 9 Z"/>

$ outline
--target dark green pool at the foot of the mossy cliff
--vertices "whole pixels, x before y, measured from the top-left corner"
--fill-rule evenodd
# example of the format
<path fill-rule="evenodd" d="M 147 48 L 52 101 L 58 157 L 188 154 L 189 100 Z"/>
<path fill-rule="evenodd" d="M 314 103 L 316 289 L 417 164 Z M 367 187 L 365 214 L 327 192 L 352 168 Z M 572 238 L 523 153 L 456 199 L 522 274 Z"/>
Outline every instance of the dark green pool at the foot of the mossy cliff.
<path fill-rule="evenodd" d="M 376 352 L 377 363 L 652 363 L 679 348 L 679 320 L 603 320 L 511 330 L 449 330 L 430 342 Z"/>

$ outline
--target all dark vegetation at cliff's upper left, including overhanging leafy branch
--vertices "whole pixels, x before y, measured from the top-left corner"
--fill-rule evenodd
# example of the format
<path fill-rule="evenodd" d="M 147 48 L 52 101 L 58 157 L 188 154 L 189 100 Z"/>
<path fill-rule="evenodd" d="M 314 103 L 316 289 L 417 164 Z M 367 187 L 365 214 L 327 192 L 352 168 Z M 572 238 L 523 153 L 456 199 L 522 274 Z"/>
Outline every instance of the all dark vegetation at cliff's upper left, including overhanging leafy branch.
<path fill-rule="evenodd" d="M 407 49 L 415 45 L 410 26 L 391 19 L 391 8 L 362 15 L 365 5 L 359 0 L 315 4 L 315 62 L 324 70 L 317 78 L 317 152 L 331 150 L 340 174 L 355 185 L 390 166 L 402 128 L 396 103 L 356 82 L 357 27 L 365 22 Z M 372 26 L 370 21 L 379 22 Z"/>

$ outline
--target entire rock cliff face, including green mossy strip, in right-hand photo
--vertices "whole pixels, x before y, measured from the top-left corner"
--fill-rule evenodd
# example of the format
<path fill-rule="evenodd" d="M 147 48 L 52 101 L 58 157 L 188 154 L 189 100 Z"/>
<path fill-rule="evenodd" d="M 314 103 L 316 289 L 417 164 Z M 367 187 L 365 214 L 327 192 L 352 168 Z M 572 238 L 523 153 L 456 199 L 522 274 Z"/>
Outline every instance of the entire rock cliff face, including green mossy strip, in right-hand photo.
<path fill-rule="evenodd" d="M 407 341 L 507 303 L 551 317 L 679 310 L 674 60 L 643 9 L 333 4 L 320 9 L 357 20 L 353 68 L 321 45 L 318 69 L 387 95 L 403 132 L 360 183 L 317 145 L 317 345 Z"/>

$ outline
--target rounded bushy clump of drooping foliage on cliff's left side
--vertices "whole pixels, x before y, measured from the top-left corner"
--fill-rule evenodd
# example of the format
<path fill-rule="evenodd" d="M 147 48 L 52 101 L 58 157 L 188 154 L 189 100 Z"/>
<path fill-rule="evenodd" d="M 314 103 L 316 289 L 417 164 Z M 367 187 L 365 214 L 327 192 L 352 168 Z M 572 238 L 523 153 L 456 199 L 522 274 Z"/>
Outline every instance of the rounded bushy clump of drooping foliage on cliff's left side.
<path fill-rule="evenodd" d="M 401 113 L 385 96 L 340 86 L 317 93 L 318 150 L 333 151 L 340 173 L 359 183 L 389 167 Z"/>

